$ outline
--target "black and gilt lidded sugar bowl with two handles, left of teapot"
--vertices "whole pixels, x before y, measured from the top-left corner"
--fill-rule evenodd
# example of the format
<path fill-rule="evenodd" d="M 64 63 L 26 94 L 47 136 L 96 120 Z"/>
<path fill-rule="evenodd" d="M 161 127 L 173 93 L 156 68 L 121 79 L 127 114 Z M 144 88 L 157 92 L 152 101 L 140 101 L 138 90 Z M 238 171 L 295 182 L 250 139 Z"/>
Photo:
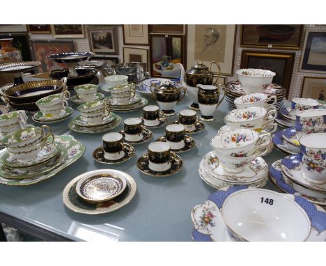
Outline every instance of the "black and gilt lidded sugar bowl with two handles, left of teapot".
<path fill-rule="evenodd" d="M 157 86 L 152 83 L 150 85 L 150 91 L 152 92 L 153 97 L 157 101 L 157 104 L 162 109 L 165 116 L 173 116 L 176 114 L 176 111 L 173 110 L 176 107 L 176 104 L 183 100 L 187 88 L 183 86 L 178 86 L 178 84 L 173 84 L 171 81 L 166 81 L 165 84 Z M 183 95 L 181 96 L 181 91 Z"/>

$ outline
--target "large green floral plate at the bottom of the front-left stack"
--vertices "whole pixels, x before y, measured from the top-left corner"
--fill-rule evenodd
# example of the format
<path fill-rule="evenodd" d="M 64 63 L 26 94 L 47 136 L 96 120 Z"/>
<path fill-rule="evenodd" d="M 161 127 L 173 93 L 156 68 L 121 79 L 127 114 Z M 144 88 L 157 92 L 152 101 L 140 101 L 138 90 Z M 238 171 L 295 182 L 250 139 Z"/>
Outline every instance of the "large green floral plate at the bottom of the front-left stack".
<path fill-rule="evenodd" d="M 67 150 L 68 155 L 65 158 L 65 160 L 57 166 L 52 171 L 49 171 L 47 173 L 40 172 L 40 175 L 34 177 L 34 178 L 26 178 L 22 180 L 11 180 L 8 178 L 3 178 L 0 176 L 0 184 L 4 185 L 11 185 L 11 186 L 26 186 L 26 185 L 32 185 L 36 184 L 40 181 L 47 180 L 48 178 L 51 178 L 53 175 L 56 175 L 56 173 L 59 173 L 61 170 L 65 169 L 67 166 L 72 164 L 73 162 L 76 162 L 77 159 L 79 159 L 81 156 L 84 155 L 85 152 L 85 146 L 74 139 L 73 136 L 70 135 L 61 135 L 61 136 L 55 136 L 54 141 L 61 144 L 65 150 Z"/>

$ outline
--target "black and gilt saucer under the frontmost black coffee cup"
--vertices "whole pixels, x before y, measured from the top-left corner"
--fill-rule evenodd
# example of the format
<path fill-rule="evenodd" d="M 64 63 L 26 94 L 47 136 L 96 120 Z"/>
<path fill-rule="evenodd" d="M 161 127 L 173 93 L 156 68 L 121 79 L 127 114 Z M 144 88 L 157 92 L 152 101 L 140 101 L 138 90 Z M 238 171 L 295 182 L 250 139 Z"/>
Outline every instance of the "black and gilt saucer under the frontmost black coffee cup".
<path fill-rule="evenodd" d="M 171 155 L 172 157 L 172 155 Z M 144 173 L 145 175 L 152 175 L 157 178 L 161 178 L 164 176 L 174 175 L 178 173 L 183 168 L 183 159 L 180 158 L 180 156 L 176 155 L 176 159 L 172 159 L 172 165 L 169 170 L 157 172 L 149 169 L 148 167 L 148 154 L 141 156 L 137 161 L 137 168 L 141 173 Z"/>

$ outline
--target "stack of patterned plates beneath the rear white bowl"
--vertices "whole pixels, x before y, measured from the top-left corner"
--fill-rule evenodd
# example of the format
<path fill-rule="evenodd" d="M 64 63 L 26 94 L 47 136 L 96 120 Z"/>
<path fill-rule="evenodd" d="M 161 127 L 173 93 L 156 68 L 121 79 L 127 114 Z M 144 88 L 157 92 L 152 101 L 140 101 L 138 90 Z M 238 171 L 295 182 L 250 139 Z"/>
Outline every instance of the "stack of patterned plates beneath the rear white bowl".
<path fill-rule="evenodd" d="M 231 109 L 236 109 L 237 107 L 235 106 L 235 102 L 234 102 L 235 99 L 237 97 L 247 95 L 247 93 L 244 91 L 239 81 L 228 82 L 225 86 L 226 86 L 226 91 L 225 91 L 226 103 L 228 104 L 228 107 L 230 107 Z M 280 111 L 282 109 L 284 104 L 283 100 L 284 97 L 286 96 L 285 88 L 277 84 L 267 84 L 266 86 L 263 87 L 262 93 L 265 93 L 268 96 L 276 96 L 277 101 L 274 102 L 273 105 L 277 109 L 277 111 Z"/>

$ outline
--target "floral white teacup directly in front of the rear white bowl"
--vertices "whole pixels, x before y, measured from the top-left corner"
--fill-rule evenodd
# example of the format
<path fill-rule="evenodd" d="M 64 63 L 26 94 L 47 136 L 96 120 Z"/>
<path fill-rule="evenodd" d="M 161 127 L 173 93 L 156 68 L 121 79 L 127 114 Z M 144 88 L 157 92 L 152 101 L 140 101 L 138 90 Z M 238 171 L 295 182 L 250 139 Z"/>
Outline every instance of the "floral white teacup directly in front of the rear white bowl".
<path fill-rule="evenodd" d="M 267 95 L 265 93 L 251 93 L 235 98 L 234 100 L 237 109 L 248 107 L 271 107 L 276 102 L 276 95 Z"/>

